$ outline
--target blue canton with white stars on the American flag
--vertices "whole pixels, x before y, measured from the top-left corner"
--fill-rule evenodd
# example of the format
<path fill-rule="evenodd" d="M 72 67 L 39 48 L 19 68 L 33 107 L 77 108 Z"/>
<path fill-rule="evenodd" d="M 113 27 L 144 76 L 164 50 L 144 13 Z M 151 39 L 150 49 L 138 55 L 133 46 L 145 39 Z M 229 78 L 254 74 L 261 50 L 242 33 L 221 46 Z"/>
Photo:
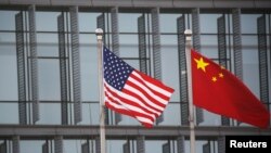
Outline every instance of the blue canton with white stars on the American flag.
<path fill-rule="evenodd" d="M 112 51 L 103 49 L 104 79 L 113 88 L 121 91 L 133 67 L 128 65 Z"/>

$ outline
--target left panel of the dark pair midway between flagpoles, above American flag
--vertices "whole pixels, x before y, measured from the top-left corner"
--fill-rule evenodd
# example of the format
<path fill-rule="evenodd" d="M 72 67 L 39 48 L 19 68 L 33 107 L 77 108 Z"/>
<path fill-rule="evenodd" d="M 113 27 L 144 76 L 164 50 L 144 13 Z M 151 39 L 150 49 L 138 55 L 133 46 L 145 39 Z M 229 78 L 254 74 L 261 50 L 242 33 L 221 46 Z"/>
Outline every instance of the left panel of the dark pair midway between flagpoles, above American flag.
<path fill-rule="evenodd" d="M 138 33 L 139 33 L 139 66 L 140 72 L 147 74 L 146 64 L 146 30 L 144 14 L 138 17 Z"/>

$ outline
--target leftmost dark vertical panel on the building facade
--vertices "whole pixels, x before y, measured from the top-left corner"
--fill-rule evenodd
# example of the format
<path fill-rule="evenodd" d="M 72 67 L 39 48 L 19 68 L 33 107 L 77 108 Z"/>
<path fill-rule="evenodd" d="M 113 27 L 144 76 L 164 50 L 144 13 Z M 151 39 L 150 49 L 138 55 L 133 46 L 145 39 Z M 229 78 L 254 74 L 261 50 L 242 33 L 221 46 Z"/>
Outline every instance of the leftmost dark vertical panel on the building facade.
<path fill-rule="evenodd" d="M 25 80 L 25 50 L 23 12 L 15 15 L 16 24 L 16 52 L 17 52 L 17 84 L 18 84 L 18 122 L 27 124 L 26 115 L 26 80 Z"/>

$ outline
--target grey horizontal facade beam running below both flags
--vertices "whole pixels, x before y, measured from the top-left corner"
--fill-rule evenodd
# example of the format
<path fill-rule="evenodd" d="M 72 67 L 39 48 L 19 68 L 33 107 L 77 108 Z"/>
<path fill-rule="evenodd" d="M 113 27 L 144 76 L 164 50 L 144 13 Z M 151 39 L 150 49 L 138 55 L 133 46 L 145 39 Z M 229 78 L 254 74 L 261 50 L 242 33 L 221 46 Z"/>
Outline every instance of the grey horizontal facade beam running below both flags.
<path fill-rule="evenodd" d="M 141 126 L 106 126 L 108 139 L 126 139 L 127 137 L 145 136 L 146 139 L 167 139 L 178 136 L 190 136 L 188 126 L 157 126 L 152 129 Z M 54 136 L 64 138 L 92 138 L 99 136 L 99 126 L 48 126 L 48 125 L 1 125 L 0 139 L 21 136 L 21 138 L 50 139 Z M 218 136 L 271 136 L 271 129 L 262 130 L 254 127 L 195 127 L 197 139 L 217 138 Z"/>

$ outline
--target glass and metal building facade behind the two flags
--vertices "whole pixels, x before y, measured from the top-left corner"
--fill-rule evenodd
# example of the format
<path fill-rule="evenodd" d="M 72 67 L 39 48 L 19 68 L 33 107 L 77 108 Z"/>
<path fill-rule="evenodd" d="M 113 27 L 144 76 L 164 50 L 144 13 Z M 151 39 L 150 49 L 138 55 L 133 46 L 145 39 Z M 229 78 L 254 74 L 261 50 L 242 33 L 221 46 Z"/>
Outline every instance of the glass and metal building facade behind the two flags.
<path fill-rule="evenodd" d="M 0 153 L 99 153 L 95 29 L 104 46 L 176 91 L 152 129 L 105 111 L 107 153 L 189 153 L 184 30 L 193 48 L 271 110 L 271 1 L 0 0 Z M 271 136 L 195 109 L 196 152 Z"/>

